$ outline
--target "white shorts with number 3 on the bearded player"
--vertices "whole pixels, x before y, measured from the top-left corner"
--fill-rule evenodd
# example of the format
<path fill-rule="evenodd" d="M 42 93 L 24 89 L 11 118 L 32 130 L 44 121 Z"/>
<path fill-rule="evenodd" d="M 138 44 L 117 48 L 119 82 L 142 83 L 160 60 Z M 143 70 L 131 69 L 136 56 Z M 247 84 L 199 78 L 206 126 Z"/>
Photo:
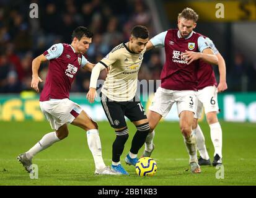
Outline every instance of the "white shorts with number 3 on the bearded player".
<path fill-rule="evenodd" d="M 169 90 L 158 87 L 149 110 L 161 114 L 162 117 L 166 117 L 174 103 L 177 103 L 178 115 L 182 111 L 192 111 L 195 113 L 197 106 L 196 92 L 192 90 Z"/>

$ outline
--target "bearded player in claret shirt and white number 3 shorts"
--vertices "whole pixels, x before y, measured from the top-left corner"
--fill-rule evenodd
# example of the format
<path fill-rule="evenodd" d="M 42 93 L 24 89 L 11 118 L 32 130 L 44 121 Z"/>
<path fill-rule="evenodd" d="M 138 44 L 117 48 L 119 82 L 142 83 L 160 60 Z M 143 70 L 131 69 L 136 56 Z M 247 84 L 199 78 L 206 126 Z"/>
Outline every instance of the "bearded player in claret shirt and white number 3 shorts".
<path fill-rule="evenodd" d="M 192 132 L 193 116 L 196 112 L 197 72 L 200 59 L 218 64 L 205 38 L 193 32 L 198 15 L 193 9 L 186 8 L 179 14 L 178 28 L 162 32 L 147 44 L 147 50 L 164 47 L 166 62 L 161 72 L 161 87 L 149 106 L 148 119 L 151 132 L 146 138 L 143 157 L 149 157 L 154 149 L 152 139 L 154 129 L 162 117 L 169 113 L 172 105 L 177 104 L 185 146 L 190 157 L 192 173 L 201 173 L 196 155 L 196 138 Z"/>

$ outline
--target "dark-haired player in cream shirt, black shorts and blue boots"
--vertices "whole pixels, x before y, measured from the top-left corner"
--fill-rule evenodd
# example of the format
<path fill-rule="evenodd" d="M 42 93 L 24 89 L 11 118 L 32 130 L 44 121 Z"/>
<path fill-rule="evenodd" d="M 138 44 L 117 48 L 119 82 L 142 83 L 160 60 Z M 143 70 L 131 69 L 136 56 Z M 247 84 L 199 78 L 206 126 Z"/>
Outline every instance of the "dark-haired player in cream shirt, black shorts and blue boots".
<path fill-rule="evenodd" d="M 128 165 L 136 165 L 138 151 L 143 146 L 149 132 L 148 118 L 136 96 L 138 72 L 146 51 L 148 37 L 146 27 L 141 25 L 133 27 L 128 43 L 121 43 L 113 48 L 104 59 L 95 65 L 90 77 L 90 90 L 87 98 L 93 102 L 100 71 L 105 67 L 110 68 L 102 87 L 101 103 L 116 134 L 112 146 L 112 169 L 121 174 L 128 174 L 120 163 L 120 156 L 128 139 L 125 116 L 138 129 L 131 142 L 130 152 L 125 158 Z"/>

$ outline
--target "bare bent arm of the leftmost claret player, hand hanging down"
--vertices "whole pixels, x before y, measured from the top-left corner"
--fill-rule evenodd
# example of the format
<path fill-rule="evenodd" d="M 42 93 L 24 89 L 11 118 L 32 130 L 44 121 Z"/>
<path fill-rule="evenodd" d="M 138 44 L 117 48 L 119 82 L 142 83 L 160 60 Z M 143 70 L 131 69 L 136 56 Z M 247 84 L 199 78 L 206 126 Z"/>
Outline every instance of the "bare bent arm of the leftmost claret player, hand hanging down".
<path fill-rule="evenodd" d="M 41 62 L 47 61 L 45 55 L 41 54 L 37 56 L 37 58 L 32 61 L 32 80 L 31 80 L 31 88 L 33 88 L 36 92 L 39 92 L 38 83 L 43 82 L 42 79 L 38 76 L 38 70 Z"/>

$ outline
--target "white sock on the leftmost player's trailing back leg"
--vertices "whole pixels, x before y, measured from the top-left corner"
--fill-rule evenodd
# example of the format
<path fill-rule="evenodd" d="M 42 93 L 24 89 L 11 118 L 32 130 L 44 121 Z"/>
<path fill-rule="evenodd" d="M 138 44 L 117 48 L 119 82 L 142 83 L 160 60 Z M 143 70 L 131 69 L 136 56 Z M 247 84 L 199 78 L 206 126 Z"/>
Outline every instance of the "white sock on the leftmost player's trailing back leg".
<path fill-rule="evenodd" d="M 45 136 L 42 137 L 42 139 L 37 142 L 28 152 L 26 152 L 27 158 L 31 160 L 37 153 L 41 152 L 42 150 L 45 150 L 46 148 L 53 145 L 55 142 L 60 141 L 60 139 L 57 137 L 56 132 L 49 132 L 48 134 L 45 134 Z"/>

